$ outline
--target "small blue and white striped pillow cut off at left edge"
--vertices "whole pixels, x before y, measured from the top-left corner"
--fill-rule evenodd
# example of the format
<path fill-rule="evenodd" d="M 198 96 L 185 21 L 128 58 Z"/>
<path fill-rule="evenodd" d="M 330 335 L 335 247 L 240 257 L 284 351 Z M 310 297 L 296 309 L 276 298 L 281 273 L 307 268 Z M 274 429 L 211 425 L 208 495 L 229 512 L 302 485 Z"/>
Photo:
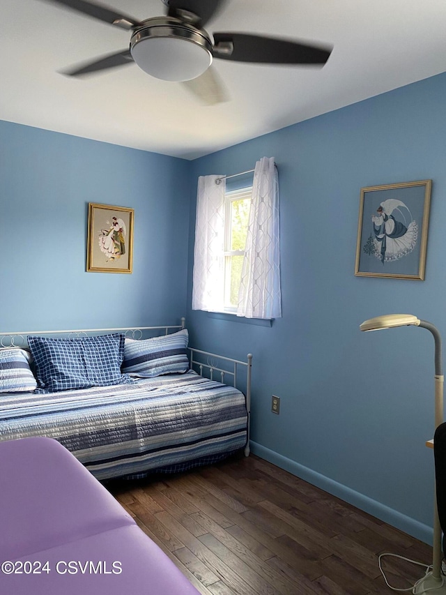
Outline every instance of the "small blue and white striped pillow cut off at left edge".
<path fill-rule="evenodd" d="M 0 349 L 0 393 L 31 392 L 37 387 L 23 349 Z"/>

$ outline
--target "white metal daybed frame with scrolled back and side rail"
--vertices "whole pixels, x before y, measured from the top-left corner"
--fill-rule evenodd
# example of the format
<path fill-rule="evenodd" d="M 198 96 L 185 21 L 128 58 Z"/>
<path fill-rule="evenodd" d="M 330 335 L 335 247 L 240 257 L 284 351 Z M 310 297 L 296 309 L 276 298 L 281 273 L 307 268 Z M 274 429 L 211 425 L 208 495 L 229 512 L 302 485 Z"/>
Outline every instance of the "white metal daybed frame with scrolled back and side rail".
<path fill-rule="evenodd" d="M 75 329 L 68 331 L 15 331 L 8 333 L 0 332 L 0 348 L 7 347 L 26 347 L 26 337 L 63 335 L 68 338 L 88 337 L 98 333 L 124 333 L 129 338 L 140 340 L 149 336 L 162 336 L 181 331 L 185 329 L 185 317 L 181 318 L 181 324 L 166 324 L 162 326 L 135 326 L 123 327 L 118 329 Z M 148 337 L 146 337 L 148 338 Z M 236 389 L 245 393 L 247 409 L 247 443 L 245 446 L 245 456 L 249 455 L 249 438 L 251 422 L 251 382 L 252 382 L 252 354 L 247 354 L 246 361 L 232 359 L 230 357 L 214 354 L 188 347 L 190 352 L 190 368 L 201 376 L 206 376 L 211 380 L 217 380 L 222 384 L 231 384 Z M 240 379 L 239 370 L 244 370 Z M 214 375 L 220 375 L 220 378 L 214 378 Z M 229 379 L 229 382 L 226 382 Z"/>

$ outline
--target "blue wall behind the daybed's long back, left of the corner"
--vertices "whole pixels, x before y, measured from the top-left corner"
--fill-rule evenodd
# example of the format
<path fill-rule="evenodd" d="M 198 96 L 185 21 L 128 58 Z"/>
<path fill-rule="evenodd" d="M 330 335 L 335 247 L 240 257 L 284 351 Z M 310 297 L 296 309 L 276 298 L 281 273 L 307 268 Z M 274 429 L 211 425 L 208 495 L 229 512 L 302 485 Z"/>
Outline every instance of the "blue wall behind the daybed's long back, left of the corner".
<path fill-rule="evenodd" d="M 178 324 L 190 163 L 0 121 L 0 329 Z M 133 273 L 86 273 L 89 202 L 134 209 Z"/>

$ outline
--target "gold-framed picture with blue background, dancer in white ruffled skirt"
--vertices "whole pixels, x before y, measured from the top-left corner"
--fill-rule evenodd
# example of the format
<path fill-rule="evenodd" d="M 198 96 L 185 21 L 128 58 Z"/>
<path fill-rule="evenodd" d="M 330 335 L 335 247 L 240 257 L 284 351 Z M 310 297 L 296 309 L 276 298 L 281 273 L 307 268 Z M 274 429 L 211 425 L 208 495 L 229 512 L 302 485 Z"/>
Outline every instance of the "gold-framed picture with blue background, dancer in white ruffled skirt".
<path fill-rule="evenodd" d="M 361 188 L 355 275 L 424 280 L 431 185 Z"/>

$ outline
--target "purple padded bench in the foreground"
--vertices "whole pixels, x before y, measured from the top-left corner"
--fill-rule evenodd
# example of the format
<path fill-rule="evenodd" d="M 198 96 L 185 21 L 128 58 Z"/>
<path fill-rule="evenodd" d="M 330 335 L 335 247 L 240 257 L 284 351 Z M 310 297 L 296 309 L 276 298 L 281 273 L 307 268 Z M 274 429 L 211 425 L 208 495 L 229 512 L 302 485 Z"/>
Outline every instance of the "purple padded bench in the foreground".
<path fill-rule="evenodd" d="M 0 442 L 1 595 L 199 595 L 56 440 Z"/>

